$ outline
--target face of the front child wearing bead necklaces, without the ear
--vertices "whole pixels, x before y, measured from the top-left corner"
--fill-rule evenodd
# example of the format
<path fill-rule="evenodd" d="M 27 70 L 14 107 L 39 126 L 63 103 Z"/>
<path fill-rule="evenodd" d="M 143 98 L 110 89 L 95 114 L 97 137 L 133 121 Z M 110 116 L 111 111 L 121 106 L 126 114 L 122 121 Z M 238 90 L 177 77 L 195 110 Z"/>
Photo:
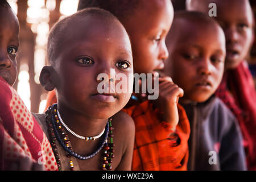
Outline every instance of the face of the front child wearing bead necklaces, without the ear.
<path fill-rule="evenodd" d="M 130 40 L 119 22 L 84 19 L 69 22 L 62 35 L 54 65 L 58 104 L 89 117 L 109 118 L 127 104 L 132 88 L 130 93 L 98 94 L 97 77 L 106 73 L 117 85 L 120 81 L 111 76 L 133 74 Z M 110 69 L 115 75 L 110 75 Z M 128 81 L 132 86 L 133 77 Z"/>

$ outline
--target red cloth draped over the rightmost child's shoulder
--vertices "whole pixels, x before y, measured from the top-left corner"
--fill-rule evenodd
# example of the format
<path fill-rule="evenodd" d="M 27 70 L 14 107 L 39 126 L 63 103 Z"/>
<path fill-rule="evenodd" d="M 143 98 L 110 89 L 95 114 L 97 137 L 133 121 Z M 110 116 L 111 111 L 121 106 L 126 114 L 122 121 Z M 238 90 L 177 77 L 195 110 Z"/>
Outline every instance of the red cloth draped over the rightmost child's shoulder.
<path fill-rule="evenodd" d="M 225 72 L 216 96 L 236 116 L 243 134 L 247 168 L 256 170 L 256 91 L 245 61 Z"/>

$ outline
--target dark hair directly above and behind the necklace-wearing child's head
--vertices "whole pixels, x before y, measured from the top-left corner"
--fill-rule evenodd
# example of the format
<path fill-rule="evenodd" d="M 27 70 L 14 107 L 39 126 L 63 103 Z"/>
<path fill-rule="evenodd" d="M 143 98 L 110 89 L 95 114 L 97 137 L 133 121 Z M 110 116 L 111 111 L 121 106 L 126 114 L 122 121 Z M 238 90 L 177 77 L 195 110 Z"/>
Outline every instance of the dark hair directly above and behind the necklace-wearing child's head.
<path fill-rule="evenodd" d="M 117 16 L 118 19 L 129 17 L 143 0 L 80 0 L 77 10 L 98 7 Z"/>

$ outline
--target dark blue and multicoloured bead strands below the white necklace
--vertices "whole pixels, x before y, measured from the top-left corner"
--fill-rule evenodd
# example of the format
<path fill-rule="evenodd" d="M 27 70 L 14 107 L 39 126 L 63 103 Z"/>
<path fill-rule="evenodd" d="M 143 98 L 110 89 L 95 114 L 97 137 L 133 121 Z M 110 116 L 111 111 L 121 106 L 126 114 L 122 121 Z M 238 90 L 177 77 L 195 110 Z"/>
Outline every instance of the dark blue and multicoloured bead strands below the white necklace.
<path fill-rule="evenodd" d="M 63 124 L 60 122 L 60 119 L 57 115 L 57 105 L 53 104 L 48 108 L 46 111 L 46 121 L 48 123 L 48 130 L 49 130 L 49 136 L 50 136 L 50 143 L 53 149 L 53 154 L 55 155 L 57 166 L 59 168 L 59 171 L 61 171 L 61 164 L 60 164 L 60 157 L 59 153 L 57 152 L 57 147 L 56 147 L 56 140 L 60 143 L 60 145 L 63 147 L 63 149 L 68 153 L 67 157 L 71 158 L 71 156 L 74 156 L 77 159 L 80 160 L 86 160 L 93 158 L 98 152 L 101 151 L 102 148 L 104 148 L 104 159 L 103 159 L 103 164 L 102 164 L 102 170 L 111 170 L 112 169 L 112 162 L 114 158 L 114 143 L 113 143 L 113 126 L 112 126 L 112 118 L 109 118 L 108 123 L 105 127 L 104 130 L 104 140 L 101 143 L 100 147 L 93 152 L 90 155 L 87 156 L 82 156 L 77 154 L 72 150 L 72 147 L 69 146 L 69 139 L 68 135 L 65 132 Z M 110 142 L 108 143 L 108 137 L 110 138 Z M 69 165 L 71 171 L 74 171 L 75 168 L 73 167 L 73 162 L 72 160 L 69 160 Z"/>

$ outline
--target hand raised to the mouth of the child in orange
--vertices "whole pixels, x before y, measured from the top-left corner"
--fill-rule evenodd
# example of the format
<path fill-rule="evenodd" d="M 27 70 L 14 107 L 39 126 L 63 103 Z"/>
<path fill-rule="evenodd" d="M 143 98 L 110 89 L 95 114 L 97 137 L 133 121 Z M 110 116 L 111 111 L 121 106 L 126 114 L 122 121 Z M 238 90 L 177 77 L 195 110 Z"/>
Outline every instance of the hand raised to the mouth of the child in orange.
<path fill-rule="evenodd" d="M 159 108 L 160 119 L 170 123 L 172 129 L 175 129 L 179 122 L 177 103 L 183 94 L 183 89 L 174 84 L 171 77 L 159 77 L 159 97 L 153 102 L 154 106 Z"/>

